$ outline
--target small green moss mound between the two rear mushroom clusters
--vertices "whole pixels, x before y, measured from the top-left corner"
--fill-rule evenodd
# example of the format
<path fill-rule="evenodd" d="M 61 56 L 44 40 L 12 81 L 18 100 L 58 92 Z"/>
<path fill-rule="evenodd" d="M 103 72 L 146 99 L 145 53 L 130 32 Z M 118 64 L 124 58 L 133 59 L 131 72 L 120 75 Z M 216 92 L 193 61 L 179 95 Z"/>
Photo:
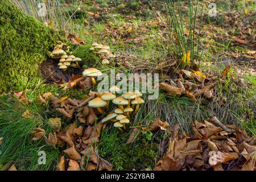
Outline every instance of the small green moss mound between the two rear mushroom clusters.
<path fill-rule="evenodd" d="M 73 55 L 80 57 L 84 61 L 85 67 L 97 67 L 100 58 L 93 52 L 90 51 L 90 46 L 82 45 L 77 47 L 73 51 Z"/>

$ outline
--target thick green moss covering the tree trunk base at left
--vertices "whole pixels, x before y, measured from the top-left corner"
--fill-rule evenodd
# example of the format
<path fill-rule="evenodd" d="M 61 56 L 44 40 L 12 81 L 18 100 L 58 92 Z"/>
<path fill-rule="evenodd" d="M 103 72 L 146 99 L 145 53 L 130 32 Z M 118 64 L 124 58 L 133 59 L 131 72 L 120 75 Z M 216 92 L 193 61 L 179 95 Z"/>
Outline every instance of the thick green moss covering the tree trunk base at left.
<path fill-rule="evenodd" d="M 0 2 L 0 92 L 38 84 L 39 65 L 60 37 L 8 0 Z"/>

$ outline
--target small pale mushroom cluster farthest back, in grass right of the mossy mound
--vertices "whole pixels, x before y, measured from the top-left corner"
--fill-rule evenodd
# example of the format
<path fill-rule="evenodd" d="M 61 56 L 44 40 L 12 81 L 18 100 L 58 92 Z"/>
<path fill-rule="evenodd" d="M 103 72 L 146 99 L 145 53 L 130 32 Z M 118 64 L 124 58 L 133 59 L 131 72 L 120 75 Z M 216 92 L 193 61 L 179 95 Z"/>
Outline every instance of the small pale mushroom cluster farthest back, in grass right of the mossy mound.
<path fill-rule="evenodd" d="M 98 44 L 96 42 L 92 44 L 90 50 L 99 53 L 100 57 L 102 58 L 102 64 L 109 64 L 108 59 L 116 57 L 112 52 L 110 52 L 109 46 Z"/>

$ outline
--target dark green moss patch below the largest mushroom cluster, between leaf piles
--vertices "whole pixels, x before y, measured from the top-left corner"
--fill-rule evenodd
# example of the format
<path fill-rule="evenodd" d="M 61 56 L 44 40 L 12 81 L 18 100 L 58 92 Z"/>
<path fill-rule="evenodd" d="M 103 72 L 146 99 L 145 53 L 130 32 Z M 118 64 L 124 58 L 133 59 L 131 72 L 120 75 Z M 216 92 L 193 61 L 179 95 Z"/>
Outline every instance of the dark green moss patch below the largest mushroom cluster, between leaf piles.
<path fill-rule="evenodd" d="M 120 133 L 111 127 L 103 130 L 98 146 L 98 154 L 113 164 L 114 170 L 141 170 L 154 167 L 156 144 L 143 144 L 143 136 L 137 137 L 132 144 L 126 144 L 129 132 Z"/>

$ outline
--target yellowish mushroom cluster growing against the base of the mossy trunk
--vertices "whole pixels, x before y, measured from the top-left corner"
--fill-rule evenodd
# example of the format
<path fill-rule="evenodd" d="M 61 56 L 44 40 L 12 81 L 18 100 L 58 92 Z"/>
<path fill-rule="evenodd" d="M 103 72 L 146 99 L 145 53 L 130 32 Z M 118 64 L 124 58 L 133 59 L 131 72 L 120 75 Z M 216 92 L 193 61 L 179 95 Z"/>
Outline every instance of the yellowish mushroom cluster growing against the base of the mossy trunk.
<path fill-rule="evenodd" d="M 53 59 L 60 59 L 58 63 L 59 68 L 64 71 L 67 70 L 68 67 L 80 68 L 78 63 L 82 60 L 79 57 L 72 55 L 72 52 L 69 51 L 71 47 L 60 41 L 57 43 L 57 46 L 55 46 L 52 51 L 51 57 Z"/>

